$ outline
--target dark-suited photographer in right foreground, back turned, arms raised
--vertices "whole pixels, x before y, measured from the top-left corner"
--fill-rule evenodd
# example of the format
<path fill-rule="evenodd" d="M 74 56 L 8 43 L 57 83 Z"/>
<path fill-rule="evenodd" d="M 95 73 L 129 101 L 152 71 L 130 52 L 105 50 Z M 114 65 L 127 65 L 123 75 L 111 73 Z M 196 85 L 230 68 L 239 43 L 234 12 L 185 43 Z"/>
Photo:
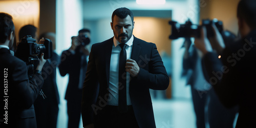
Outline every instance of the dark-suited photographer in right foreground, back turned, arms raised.
<path fill-rule="evenodd" d="M 222 36 L 213 26 L 215 36 L 211 42 L 203 28 L 195 45 L 204 54 L 205 78 L 214 87 L 222 104 L 227 108 L 239 105 L 236 127 L 256 127 L 256 1 L 241 0 L 237 17 L 240 40 L 225 48 Z"/>

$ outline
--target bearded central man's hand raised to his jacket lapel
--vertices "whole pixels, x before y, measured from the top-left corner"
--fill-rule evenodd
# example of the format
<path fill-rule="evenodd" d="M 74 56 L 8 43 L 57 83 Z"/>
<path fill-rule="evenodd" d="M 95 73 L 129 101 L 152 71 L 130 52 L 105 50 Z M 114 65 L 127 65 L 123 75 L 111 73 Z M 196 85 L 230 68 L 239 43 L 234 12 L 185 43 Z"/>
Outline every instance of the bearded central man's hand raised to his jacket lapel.
<path fill-rule="evenodd" d="M 125 71 L 129 72 L 132 77 L 138 76 L 140 68 L 137 62 L 133 59 L 127 59 L 125 65 Z"/>

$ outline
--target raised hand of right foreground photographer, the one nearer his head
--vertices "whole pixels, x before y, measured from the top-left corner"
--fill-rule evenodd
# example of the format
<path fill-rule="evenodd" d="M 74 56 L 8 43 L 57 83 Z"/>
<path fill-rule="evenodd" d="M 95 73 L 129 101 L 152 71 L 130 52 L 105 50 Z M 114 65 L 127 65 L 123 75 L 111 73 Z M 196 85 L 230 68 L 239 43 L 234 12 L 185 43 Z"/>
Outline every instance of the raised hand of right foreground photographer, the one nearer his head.
<path fill-rule="evenodd" d="M 213 24 L 211 27 L 214 30 L 214 37 L 209 38 L 209 41 L 212 49 L 216 50 L 217 53 L 220 54 L 225 48 L 224 40 L 216 25 Z"/>

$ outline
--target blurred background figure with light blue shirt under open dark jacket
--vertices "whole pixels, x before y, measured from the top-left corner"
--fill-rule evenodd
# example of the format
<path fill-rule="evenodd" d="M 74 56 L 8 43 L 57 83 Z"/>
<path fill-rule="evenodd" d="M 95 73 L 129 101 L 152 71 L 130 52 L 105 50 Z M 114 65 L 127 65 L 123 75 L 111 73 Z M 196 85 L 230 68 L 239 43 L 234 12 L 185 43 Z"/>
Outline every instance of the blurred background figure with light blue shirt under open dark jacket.
<path fill-rule="evenodd" d="M 185 38 L 183 47 L 183 73 L 186 78 L 186 85 L 191 86 L 191 95 L 196 114 L 197 128 L 205 128 L 207 120 L 207 107 L 209 102 L 210 84 L 204 79 L 201 65 L 202 53 L 198 51 L 190 38 Z"/>

